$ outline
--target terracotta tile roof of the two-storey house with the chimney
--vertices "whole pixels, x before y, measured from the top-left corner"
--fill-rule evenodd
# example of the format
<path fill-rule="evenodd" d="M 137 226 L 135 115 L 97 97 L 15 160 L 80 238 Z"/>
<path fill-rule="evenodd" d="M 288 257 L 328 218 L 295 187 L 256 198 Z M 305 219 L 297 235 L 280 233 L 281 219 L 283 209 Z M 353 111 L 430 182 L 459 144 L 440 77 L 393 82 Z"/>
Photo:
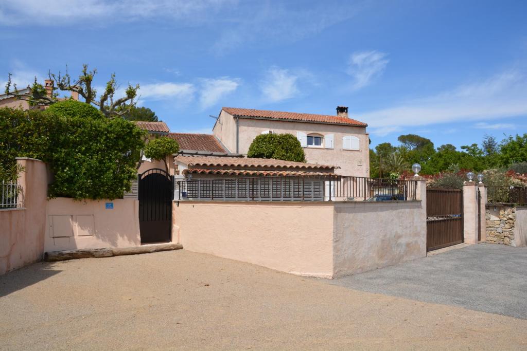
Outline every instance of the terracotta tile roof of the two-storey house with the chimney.
<path fill-rule="evenodd" d="M 223 111 L 233 115 L 247 118 L 270 118 L 310 123 L 344 124 L 358 127 L 367 127 L 363 122 L 344 116 L 316 115 L 310 113 L 265 111 L 261 109 L 223 107 Z"/>

